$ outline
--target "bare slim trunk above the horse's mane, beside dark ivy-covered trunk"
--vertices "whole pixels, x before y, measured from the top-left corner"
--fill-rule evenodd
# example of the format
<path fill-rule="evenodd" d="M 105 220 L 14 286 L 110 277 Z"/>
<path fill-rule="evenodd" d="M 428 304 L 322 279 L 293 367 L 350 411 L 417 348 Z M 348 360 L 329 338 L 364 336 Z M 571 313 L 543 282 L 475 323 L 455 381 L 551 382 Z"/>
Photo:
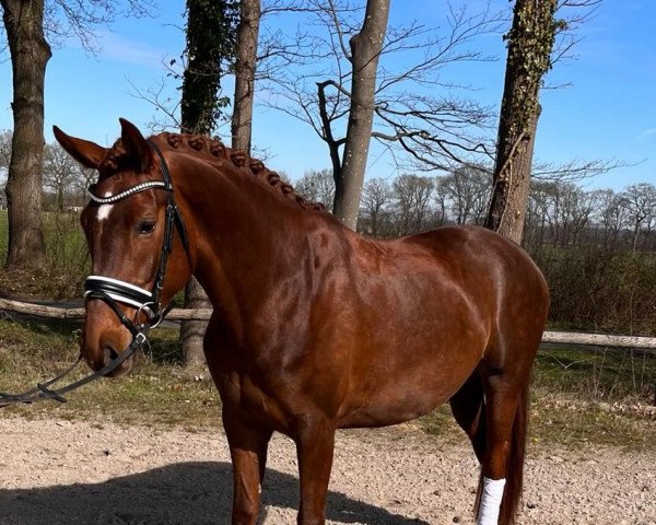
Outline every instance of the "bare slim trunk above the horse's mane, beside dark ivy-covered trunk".
<path fill-rule="evenodd" d="M 250 154 L 255 67 L 260 22 L 260 0 L 242 0 L 235 62 L 235 109 L 232 117 L 232 147 Z"/>

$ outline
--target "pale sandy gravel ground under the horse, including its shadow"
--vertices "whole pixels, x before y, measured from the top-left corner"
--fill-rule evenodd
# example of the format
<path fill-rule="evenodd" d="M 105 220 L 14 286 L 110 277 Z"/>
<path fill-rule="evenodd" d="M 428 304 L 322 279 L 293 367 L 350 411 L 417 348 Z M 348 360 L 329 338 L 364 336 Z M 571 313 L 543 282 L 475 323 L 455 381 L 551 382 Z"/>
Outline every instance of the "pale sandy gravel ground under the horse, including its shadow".
<path fill-rule="evenodd" d="M 260 523 L 294 524 L 296 459 L 276 435 Z M 229 524 L 231 466 L 215 432 L 0 419 L 0 525 Z M 410 425 L 340 432 L 329 524 L 473 523 L 471 451 Z M 534 451 L 522 524 L 656 524 L 656 457 Z"/>

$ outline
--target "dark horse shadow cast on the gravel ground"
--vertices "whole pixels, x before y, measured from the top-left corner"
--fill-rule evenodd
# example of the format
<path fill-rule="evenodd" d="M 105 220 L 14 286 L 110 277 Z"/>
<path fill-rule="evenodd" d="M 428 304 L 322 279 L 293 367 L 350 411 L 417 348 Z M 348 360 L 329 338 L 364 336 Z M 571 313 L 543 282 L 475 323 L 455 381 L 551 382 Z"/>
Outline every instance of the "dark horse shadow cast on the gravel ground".
<path fill-rule="evenodd" d="M 0 490 L 0 525 L 229 524 L 231 498 L 230 464 L 180 463 L 101 483 Z M 269 509 L 297 509 L 297 479 L 269 469 L 260 522 Z M 427 525 L 339 492 L 329 493 L 326 517 L 343 524 Z"/>

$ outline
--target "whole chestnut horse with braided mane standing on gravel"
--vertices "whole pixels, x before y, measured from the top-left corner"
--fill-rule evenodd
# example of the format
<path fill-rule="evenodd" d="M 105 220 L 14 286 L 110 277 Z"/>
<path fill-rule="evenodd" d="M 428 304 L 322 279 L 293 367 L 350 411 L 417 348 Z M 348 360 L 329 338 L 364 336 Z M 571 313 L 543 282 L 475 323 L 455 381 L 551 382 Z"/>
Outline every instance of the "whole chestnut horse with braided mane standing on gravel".
<path fill-rule="evenodd" d="M 147 140 L 120 122 L 109 149 L 55 128 L 99 173 L 81 217 L 94 279 L 157 288 L 157 310 L 191 275 L 207 291 L 204 352 L 232 455 L 232 523 L 256 523 L 273 431 L 297 447 L 298 523 L 324 524 L 336 430 L 400 423 L 445 401 L 481 464 L 479 515 L 497 493 L 493 517 L 479 522 L 501 512 L 499 523 L 514 523 L 549 304 L 531 259 L 473 226 L 365 238 L 243 152 L 198 136 Z M 143 308 L 93 299 L 81 345 L 97 370 L 130 343 L 116 314 L 140 323 Z M 113 375 L 131 366 L 132 358 Z"/>

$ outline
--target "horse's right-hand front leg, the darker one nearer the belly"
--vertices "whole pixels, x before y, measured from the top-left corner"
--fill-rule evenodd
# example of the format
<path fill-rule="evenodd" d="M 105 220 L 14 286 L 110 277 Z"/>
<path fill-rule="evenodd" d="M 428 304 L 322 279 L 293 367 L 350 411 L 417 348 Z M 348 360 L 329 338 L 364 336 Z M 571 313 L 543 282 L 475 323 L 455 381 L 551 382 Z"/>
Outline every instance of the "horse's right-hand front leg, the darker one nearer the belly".
<path fill-rule="evenodd" d="M 335 429 L 335 424 L 324 418 L 309 416 L 300 421 L 295 440 L 301 477 L 298 525 L 326 523 L 326 497 L 332 468 Z"/>

